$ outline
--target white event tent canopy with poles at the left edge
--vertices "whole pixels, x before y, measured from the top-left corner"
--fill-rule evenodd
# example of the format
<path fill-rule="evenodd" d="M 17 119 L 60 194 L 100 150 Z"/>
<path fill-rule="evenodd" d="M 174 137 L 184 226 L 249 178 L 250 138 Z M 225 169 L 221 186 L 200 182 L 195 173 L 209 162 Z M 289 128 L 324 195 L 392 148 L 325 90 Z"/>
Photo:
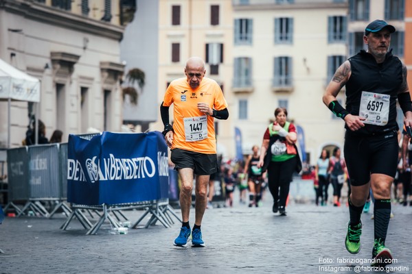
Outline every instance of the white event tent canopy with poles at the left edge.
<path fill-rule="evenodd" d="M 8 148 L 10 148 L 10 105 L 12 100 L 38 103 L 40 101 L 40 80 L 19 71 L 0 59 L 0 101 L 8 101 Z M 36 127 L 37 125 L 38 123 L 36 123 Z M 37 132 L 36 128 L 36 136 Z"/>

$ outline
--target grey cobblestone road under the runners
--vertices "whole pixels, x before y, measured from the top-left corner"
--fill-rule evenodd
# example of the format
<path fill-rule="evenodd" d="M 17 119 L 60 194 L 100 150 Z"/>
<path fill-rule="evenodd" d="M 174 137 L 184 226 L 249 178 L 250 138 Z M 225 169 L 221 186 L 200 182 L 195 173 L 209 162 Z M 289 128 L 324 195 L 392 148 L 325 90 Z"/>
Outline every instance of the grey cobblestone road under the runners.
<path fill-rule="evenodd" d="M 371 208 L 372 209 L 372 208 Z M 78 221 L 66 231 L 61 214 L 54 219 L 7 218 L 0 225 L 0 273 L 376 273 L 369 266 L 343 260 L 371 257 L 373 221 L 363 215 L 363 248 L 347 253 L 344 238 L 347 208 L 290 203 L 288 216 L 262 208 L 207 210 L 202 226 L 204 248 L 179 248 L 172 242 L 179 223 L 129 229 L 126 235 L 109 234 L 110 225 L 87 236 Z M 179 212 L 179 210 L 176 210 Z M 398 262 L 391 273 L 412 273 L 412 207 L 393 206 L 387 246 Z M 141 211 L 127 211 L 136 221 Z M 179 212 L 180 214 L 180 212 Z M 193 224 L 193 212 L 191 224 Z M 340 269 L 342 268 L 342 269 Z M 356 269 L 355 269 L 356 268 Z"/>

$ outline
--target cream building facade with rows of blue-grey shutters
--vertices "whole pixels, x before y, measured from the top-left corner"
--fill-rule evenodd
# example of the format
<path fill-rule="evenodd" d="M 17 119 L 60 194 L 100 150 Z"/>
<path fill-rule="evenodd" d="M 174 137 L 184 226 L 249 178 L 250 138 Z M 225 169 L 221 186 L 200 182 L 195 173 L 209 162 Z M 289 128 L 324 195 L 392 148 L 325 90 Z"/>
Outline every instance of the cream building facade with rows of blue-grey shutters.
<path fill-rule="evenodd" d="M 313 164 L 323 147 L 342 146 L 343 121 L 322 95 L 347 58 L 347 9 L 346 1 L 332 0 L 233 2 L 232 112 L 244 151 L 262 144 L 277 107 L 299 127 L 307 162 Z"/>

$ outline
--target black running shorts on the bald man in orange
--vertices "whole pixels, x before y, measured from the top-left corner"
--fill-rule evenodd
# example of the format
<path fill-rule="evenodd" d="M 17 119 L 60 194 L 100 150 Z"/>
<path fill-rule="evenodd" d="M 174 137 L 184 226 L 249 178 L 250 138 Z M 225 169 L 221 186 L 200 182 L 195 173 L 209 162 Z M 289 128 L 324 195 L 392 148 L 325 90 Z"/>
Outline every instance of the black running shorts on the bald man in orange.
<path fill-rule="evenodd" d="M 174 169 L 193 169 L 196 175 L 211 175 L 218 171 L 218 157 L 216 154 L 172 149 L 170 160 L 175 164 Z"/>

